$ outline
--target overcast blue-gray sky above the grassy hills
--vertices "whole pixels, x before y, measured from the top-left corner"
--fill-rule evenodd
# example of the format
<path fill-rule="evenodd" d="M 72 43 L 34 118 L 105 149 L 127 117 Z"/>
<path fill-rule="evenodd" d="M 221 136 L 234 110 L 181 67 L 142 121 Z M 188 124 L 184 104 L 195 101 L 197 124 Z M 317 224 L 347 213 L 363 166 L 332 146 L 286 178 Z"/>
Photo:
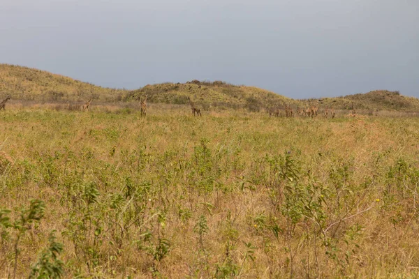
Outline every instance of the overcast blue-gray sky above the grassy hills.
<path fill-rule="evenodd" d="M 418 0 L 0 0 L 0 63 L 136 89 L 419 97 Z"/>

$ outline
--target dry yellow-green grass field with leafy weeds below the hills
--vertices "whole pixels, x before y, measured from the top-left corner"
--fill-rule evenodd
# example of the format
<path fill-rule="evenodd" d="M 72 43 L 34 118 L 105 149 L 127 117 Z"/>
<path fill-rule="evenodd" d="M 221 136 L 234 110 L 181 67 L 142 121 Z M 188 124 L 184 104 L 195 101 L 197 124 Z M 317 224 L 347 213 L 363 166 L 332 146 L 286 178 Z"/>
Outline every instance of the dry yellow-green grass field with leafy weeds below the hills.
<path fill-rule="evenodd" d="M 12 103 L 0 128 L 0 278 L 419 276 L 417 118 Z"/>

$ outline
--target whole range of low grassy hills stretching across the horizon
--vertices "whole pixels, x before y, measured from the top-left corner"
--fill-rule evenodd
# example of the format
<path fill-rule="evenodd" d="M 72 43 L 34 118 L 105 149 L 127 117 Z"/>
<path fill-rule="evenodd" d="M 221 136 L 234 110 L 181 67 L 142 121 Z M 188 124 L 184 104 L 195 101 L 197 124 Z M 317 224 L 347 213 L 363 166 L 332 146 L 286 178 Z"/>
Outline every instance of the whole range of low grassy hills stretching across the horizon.
<path fill-rule="evenodd" d="M 10 95 L 12 100 L 66 103 L 80 102 L 92 96 L 102 103 L 131 102 L 147 95 L 150 103 L 179 105 L 186 105 L 190 97 L 204 110 L 217 107 L 251 112 L 267 107 L 282 107 L 284 102 L 293 107 L 307 107 L 309 103 L 309 100 L 295 100 L 264 89 L 220 81 L 152 84 L 133 91 L 110 89 L 43 70 L 0 64 L 0 98 L 6 95 Z M 336 110 L 349 110 L 353 104 L 355 110 L 419 111 L 417 98 L 402 96 L 398 91 L 378 90 L 310 101 L 320 109 L 333 107 Z"/>

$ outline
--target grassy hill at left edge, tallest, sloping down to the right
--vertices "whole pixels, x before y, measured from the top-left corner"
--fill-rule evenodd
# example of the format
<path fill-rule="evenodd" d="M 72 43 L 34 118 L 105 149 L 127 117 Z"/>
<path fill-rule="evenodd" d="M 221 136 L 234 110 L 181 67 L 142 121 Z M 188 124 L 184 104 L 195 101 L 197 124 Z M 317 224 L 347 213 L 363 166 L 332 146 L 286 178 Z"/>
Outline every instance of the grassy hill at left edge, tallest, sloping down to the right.
<path fill-rule="evenodd" d="M 123 98 L 124 90 L 103 88 L 44 70 L 0 64 L 0 98 L 17 100 L 78 101 L 94 96 L 102 101 Z"/>

